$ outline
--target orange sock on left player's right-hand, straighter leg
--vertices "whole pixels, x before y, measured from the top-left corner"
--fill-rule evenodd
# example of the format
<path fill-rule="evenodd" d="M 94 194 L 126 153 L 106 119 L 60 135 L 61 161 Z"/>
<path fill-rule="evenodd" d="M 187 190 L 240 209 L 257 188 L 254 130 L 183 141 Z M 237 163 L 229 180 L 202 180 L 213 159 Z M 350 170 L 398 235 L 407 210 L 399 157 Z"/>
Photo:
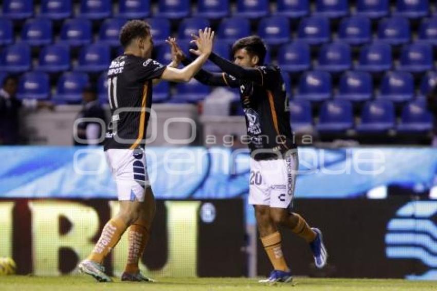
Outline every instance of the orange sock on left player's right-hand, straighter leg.
<path fill-rule="evenodd" d="M 147 223 L 138 220 L 129 228 L 129 255 L 125 272 L 135 274 L 139 271 L 138 262 L 150 238 Z"/>

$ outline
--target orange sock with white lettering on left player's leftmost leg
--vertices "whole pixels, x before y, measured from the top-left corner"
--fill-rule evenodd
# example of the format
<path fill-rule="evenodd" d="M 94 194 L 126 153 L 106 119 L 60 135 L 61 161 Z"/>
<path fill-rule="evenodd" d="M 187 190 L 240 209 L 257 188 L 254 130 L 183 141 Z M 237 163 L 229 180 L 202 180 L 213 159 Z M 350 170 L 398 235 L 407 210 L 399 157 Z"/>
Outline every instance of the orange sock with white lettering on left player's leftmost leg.
<path fill-rule="evenodd" d="M 88 260 L 101 264 L 106 255 L 118 243 L 126 227 L 121 219 L 114 218 L 108 221 L 103 227 L 102 234 L 93 252 L 88 256 Z"/>

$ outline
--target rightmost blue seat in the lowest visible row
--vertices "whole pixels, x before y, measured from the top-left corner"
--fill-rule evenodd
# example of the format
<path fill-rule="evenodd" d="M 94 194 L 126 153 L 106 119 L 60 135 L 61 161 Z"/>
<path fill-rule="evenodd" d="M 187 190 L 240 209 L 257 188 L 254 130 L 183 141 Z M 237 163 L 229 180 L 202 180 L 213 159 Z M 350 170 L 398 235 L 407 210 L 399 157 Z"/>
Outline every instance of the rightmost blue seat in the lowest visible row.
<path fill-rule="evenodd" d="M 405 133 L 425 133 L 433 128 L 431 113 L 427 110 L 424 99 L 406 104 L 400 115 L 397 131 Z"/>

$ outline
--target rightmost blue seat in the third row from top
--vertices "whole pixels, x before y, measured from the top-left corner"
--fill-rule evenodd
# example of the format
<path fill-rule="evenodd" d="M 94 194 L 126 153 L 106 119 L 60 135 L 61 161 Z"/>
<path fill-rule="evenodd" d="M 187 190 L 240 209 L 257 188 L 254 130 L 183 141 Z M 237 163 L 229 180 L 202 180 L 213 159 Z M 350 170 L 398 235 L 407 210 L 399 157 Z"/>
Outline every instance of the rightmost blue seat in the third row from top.
<path fill-rule="evenodd" d="M 400 52 L 400 62 L 397 67 L 401 71 L 423 72 L 434 68 L 432 46 L 426 43 L 405 45 Z"/>

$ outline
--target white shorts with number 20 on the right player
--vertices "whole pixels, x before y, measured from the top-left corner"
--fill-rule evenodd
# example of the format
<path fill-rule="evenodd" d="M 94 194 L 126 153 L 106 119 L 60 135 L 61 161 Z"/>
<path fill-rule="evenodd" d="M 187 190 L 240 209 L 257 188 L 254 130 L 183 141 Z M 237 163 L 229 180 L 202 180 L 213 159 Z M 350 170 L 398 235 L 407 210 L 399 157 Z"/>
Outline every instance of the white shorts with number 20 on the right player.
<path fill-rule="evenodd" d="M 249 204 L 290 208 L 298 170 L 297 153 L 282 159 L 250 158 Z"/>

